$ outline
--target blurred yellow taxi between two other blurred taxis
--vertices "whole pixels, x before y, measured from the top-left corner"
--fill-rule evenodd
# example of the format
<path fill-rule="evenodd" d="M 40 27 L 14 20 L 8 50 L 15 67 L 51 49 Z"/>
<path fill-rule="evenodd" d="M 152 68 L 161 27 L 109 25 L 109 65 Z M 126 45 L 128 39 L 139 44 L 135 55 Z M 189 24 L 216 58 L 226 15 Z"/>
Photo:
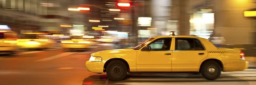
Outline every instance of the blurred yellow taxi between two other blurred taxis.
<path fill-rule="evenodd" d="M 52 47 L 55 42 L 46 38 L 47 33 L 23 33 L 17 40 L 17 45 L 21 49 L 38 49 L 43 50 Z"/>

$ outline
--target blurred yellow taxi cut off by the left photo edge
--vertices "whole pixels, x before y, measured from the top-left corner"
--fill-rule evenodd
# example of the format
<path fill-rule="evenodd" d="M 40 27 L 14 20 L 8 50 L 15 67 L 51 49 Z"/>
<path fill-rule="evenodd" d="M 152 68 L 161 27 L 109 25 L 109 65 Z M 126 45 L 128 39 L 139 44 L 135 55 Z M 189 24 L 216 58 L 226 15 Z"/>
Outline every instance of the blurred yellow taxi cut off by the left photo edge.
<path fill-rule="evenodd" d="M 17 49 L 17 33 L 0 31 L 0 54 L 12 54 Z"/>

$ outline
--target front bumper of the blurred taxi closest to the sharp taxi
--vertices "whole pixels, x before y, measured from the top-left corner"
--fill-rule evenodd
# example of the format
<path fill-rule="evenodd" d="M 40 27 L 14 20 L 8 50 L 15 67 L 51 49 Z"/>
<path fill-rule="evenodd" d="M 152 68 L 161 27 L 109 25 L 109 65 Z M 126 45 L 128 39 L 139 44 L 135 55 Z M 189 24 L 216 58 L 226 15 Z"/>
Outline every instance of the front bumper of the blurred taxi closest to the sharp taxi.
<path fill-rule="evenodd" d="M 90 44 L 61 44 L 62 48 L 87 48 Z"/>

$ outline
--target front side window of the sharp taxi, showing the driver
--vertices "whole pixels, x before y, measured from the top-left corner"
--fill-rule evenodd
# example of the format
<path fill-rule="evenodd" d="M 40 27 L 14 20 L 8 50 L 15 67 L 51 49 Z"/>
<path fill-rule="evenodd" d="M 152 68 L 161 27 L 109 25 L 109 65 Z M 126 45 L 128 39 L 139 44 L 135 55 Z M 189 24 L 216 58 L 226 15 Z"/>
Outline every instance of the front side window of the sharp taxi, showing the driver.
<path fill-rule="evenodd" d="M 151 51 L 165 51 L 170 50 L 172 38 L 157 39 L 150 43 Z"/>

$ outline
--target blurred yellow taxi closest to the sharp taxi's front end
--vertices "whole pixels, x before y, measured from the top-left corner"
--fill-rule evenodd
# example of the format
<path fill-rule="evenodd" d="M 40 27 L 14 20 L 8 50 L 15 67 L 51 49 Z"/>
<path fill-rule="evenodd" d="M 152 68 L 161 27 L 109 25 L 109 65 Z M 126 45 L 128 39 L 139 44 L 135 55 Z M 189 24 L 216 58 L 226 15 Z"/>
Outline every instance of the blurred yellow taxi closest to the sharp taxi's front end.
<path fill-rule="evenodd" d="M 91 42 L 85 40 L 81 35 L 70 35 L 70 40 L 61 41 L 62 48 L 66 49 L 84 49 L 89 47 Z"/>

